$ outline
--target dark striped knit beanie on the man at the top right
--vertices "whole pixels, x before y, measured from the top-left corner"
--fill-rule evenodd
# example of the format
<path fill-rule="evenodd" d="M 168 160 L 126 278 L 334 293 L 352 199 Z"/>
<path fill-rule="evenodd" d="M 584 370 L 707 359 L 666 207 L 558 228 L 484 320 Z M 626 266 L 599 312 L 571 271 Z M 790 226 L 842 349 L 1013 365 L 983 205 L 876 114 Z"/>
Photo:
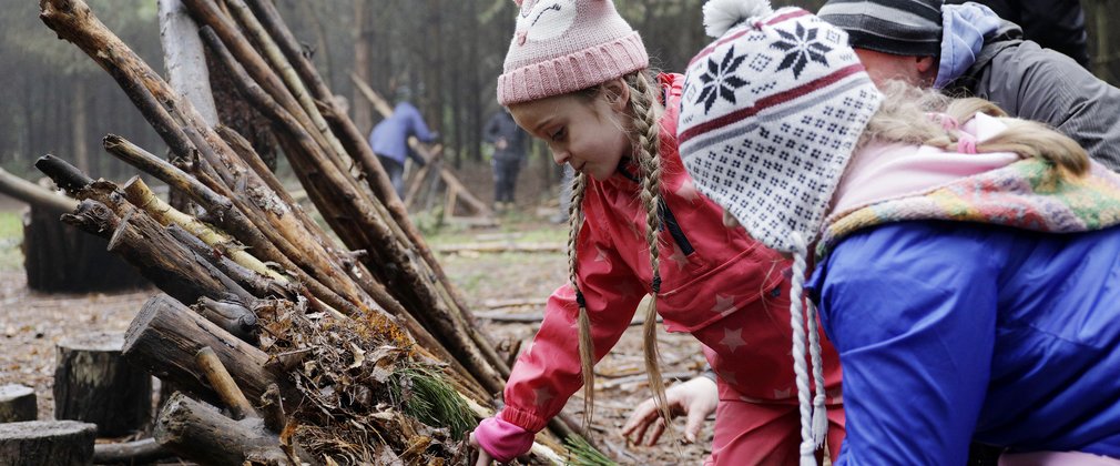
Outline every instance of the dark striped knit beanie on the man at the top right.
<path fill-rule="evenodd" d="M 848 32 L 853 48 L 892 55 L 941 55 L 942 0 L 829 0 L 816 13 Z"/>

